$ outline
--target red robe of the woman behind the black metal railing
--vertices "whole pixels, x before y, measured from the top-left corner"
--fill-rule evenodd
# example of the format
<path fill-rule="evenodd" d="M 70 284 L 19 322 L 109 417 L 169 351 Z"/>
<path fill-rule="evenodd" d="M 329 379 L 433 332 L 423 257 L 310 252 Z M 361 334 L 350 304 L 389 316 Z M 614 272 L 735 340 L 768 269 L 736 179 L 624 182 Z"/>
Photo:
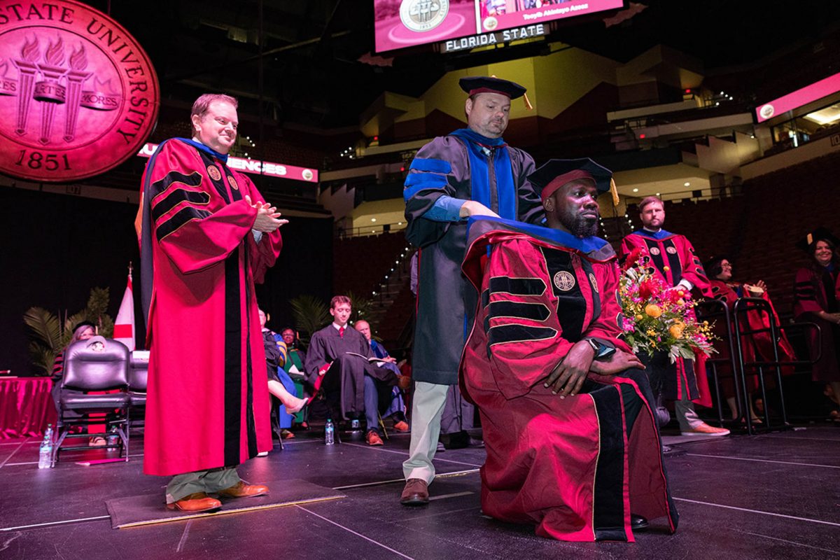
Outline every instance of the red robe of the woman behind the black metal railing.
<path fill-rule="evenodd" d="M 723 301 L 729 310 L 732 311 L 733 306 L 735 306 L 735 302 L 738 301 L 738 291 L 736 290 L 743 290 L 743 286 L 735 284 L 729 284 L 724 282 L 723 280 L 717 280 L 717 278 L 712 278 L 711 282 L 711 296 L 717 300 Z M 785 332 L 780 329 L 780 322 L 779 316 L 776 314 L 776 310 L 773 306 L 773 302 L 770 301 L 770 297 L 766 291 L 764 294 L 761 295 L 764 301 L 770 306 L 770 312 L 773 316 L 774 325 L 776 328 L 776 332 L 780 334 L 780 339 L 778 343 L 778 353 L 779 359 L 781 361 L 790 362 L 796 359 L 795 354 L 793 352 L 793 347 L 790 346 L 790 342 L 787 339 L 787 335 Z M 743 321 L 743 317 L 739 319 Z M 721 338 L 720 341 L 715 343 L 715 349 L 718 351 L 718 357 L 722 359 L 729 359 L 729 344 L 727 341 L 726 335 L 726 326 L 723 324 L 724 322 L 718 321 L 715 324 L 715 330 L 718 338 Z M 734 328 L 734 318 L 732 318 L 732 328 Z M 759 311 L 748 311 L 746 314 L 746 324 L 742 323 L 742 332 L 744 330 L 756 330 L 756 329 L 764 329 L 769 328 L 770 322 L 769 317 L 766 313 L 759 312 Z M 734 340 L 733 340 L 734 343 Z M 770 338 L 769 332 L 756 332 L 752 335 L 742 335 L 741 337 L 741 348 L 743 352 L 743 361 L 745 363 L 754 362 L 757 359 L 761 359 L 763 361 L 770 361 L 774 359 L 773 355 L 773 346 L 774 343 Z M 722 379 L 722 388 L 723 394 L 727 397 L 735 395 L 735 388 L 732 384 L 732 367 L 730 363 L 722 362 L 718 366 L 718 370 L 725 375 Z M 765 368 L 765 371 L 769 370 Z M 750 367 L 745 372 L 747 373 L 747 390 L 748 392 L 752 393 L 754 390 L 758 390 L 759 388 L 759 379 L 756 375 L 755 367 Z M 783 374 L 792 374 L 793 368 L 791 366 L 785 366 L 782 368 Z M 772 385 L 772 378 L 768 379 L 769 383 Z"/>

